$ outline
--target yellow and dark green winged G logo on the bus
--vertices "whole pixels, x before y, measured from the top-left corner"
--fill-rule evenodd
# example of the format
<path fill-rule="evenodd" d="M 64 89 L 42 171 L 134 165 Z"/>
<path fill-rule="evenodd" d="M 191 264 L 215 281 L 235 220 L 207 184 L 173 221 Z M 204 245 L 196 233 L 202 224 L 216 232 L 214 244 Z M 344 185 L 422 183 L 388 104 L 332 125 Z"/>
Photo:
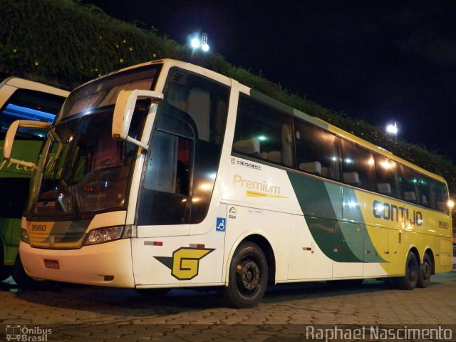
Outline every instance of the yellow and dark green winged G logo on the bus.
<path fill-rule="evenodd" d="M 213 248 L 180 247 L 172 252 L 172 257 L 154 257 L 171 269 L 171 275 L 179 280 L 190 280 L 198 275 L 199 260 L 214 251 Z"/>

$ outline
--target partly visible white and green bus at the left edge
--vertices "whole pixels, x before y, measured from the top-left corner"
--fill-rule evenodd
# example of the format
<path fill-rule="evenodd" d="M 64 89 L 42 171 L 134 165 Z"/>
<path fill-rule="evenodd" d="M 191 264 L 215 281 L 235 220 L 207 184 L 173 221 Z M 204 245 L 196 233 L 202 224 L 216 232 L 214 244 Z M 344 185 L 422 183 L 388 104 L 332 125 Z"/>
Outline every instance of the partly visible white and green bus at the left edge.
<path fill-rule="evenodd" d="M 52 123 L 69 92 L 43 83 L 9 77 L 0 83 L 0 150 L 15 120 Z M 16 153 L 21 160 L 37 160 L 46 131 L 21 128 Z M 24 286 L 29 279 L 21 268 L 21 214 L 28 197 L 31 168 L 0 158 L 0 281 L 14 275 Z"/>

